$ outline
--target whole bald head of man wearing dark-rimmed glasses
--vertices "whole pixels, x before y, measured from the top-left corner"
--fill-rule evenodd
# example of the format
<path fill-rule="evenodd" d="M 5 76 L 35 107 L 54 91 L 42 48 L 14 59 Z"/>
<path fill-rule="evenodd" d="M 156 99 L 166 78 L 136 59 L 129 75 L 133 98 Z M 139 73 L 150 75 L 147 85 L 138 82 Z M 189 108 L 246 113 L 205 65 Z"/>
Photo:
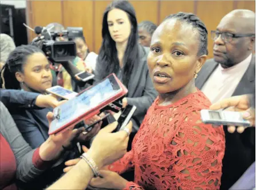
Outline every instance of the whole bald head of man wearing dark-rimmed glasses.
<path fill-rule="evenodd" d="M 222 35 L 214 39 L 214 60 L 223 68 L 239 64 L 254 50 L 255 13 L 244 9 L 231 11 L 221 19 L 216 33 Z"/>

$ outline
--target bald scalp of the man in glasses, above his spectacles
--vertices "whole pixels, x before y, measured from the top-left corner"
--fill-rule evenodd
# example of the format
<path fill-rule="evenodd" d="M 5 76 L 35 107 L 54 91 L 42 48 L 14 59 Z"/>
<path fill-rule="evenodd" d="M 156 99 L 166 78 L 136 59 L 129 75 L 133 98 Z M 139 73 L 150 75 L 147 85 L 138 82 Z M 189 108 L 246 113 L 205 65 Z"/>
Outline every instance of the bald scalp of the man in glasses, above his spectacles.
<path fill-rule="evenodd" d="M 255 13 L 251 10 L 233 10 L 222 18 L 220 23 L 222 22 L 231 22 L 237 29 L 239 28 L 239 32 L 255 34 Z"/>

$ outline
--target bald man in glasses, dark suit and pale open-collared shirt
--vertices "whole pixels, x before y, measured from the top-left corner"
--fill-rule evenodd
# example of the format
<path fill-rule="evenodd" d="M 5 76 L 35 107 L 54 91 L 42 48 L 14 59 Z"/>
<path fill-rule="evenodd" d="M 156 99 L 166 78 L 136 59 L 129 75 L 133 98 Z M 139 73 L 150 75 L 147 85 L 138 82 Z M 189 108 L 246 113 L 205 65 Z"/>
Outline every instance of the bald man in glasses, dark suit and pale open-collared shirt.
<path fill-rule="evenodd" d="M 206 61 L 196 78 L 196 86 L 212 103 L 238 96 L 253 94 L 255 81 L 255 13 L 234 10 L 225 15 L 216 31 L 214 58 Z M 222 167 L 220 189 L 229 189 L 255 161 L 255 128 L 244 133 L 226 134 L 226 150 Z"/>

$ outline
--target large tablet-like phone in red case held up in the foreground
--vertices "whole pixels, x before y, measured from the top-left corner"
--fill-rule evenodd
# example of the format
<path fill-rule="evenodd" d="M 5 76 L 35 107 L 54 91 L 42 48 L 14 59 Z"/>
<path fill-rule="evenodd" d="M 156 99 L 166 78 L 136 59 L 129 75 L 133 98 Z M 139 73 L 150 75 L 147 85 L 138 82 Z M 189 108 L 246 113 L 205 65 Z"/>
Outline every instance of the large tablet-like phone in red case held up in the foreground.
<path fill-rule="evenodd" d="M 54 120 L 50 124 L 49 134 L 88 120 L 111 102 L 127 94 L 128 90 L 115 74 L 111 74 L 97 84 L 90 86 L 73 99 L 54 108 Z"/>

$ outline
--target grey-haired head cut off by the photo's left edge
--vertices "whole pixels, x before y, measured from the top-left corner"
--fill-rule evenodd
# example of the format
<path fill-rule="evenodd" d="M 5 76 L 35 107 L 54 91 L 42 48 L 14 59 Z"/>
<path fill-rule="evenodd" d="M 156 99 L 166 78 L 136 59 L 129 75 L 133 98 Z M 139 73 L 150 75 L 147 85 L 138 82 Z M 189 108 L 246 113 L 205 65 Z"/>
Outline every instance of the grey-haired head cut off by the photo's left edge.
<path fill-rule="evenodd" d="M 7 34 L 0 34 L 0 70 L 7 60 L 9 54 L 15 49 L 13 38 Z"/>

